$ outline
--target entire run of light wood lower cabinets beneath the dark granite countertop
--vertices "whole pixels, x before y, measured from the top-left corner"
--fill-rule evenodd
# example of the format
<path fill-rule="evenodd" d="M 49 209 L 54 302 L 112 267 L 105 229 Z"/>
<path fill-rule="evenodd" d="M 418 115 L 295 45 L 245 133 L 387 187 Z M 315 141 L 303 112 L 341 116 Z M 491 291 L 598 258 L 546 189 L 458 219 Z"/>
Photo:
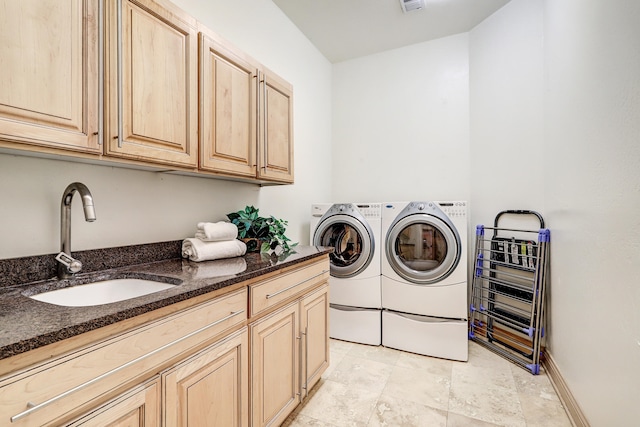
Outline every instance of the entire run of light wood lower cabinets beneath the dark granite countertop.
<path fill-rule="evenodd" d="M 264 277 L 21 369 L 0 360 L 0 425 L 280 425 L 329 366 L 328 257 Z"/>

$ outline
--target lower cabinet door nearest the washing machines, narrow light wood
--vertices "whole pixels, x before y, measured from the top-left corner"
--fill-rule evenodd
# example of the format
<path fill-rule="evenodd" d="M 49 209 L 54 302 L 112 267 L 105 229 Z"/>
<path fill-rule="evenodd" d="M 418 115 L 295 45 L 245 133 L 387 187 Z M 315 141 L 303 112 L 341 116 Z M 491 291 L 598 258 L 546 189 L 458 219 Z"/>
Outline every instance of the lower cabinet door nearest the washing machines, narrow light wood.
<path fill-rule="evenodd" d="M 329 285 L 306 296 L 301 302 L 302 398 L 329 367 Z"/>

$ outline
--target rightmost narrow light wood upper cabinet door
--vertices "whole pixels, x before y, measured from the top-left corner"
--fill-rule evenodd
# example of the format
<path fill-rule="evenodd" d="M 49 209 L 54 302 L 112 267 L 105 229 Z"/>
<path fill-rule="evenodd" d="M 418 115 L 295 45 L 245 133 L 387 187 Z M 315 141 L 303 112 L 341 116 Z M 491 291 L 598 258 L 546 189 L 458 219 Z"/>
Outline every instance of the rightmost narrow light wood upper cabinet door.
<path fill-rule="evenodd" d="M 293 182 L 293 88 L 270 72 L 260 73 L 258 178 Z"/>

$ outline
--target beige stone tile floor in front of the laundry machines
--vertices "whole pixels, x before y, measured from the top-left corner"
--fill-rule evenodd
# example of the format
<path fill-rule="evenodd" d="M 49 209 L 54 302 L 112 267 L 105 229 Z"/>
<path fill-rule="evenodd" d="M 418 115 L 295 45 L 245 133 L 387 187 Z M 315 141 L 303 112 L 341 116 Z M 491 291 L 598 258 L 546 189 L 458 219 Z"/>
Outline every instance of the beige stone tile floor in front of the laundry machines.
<path fill-rule="evenodd" d="M 331 365 L 287 427 L 571 427 L 544 370 L 469 342 L 469 361 L 331 340 Z"/>

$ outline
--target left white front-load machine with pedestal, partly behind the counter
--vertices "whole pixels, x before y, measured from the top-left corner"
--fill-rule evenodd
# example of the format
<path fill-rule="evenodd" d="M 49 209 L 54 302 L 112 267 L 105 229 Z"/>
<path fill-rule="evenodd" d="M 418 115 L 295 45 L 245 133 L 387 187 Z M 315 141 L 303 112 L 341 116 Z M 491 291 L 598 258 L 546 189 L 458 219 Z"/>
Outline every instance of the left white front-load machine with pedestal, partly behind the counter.
<path fill-rule="evenodd" d="M 333 248 L 329 255 L 329 335 L 345 341 L 382 343 L 380 203 L 311 206 L 310 240 Z"/>

